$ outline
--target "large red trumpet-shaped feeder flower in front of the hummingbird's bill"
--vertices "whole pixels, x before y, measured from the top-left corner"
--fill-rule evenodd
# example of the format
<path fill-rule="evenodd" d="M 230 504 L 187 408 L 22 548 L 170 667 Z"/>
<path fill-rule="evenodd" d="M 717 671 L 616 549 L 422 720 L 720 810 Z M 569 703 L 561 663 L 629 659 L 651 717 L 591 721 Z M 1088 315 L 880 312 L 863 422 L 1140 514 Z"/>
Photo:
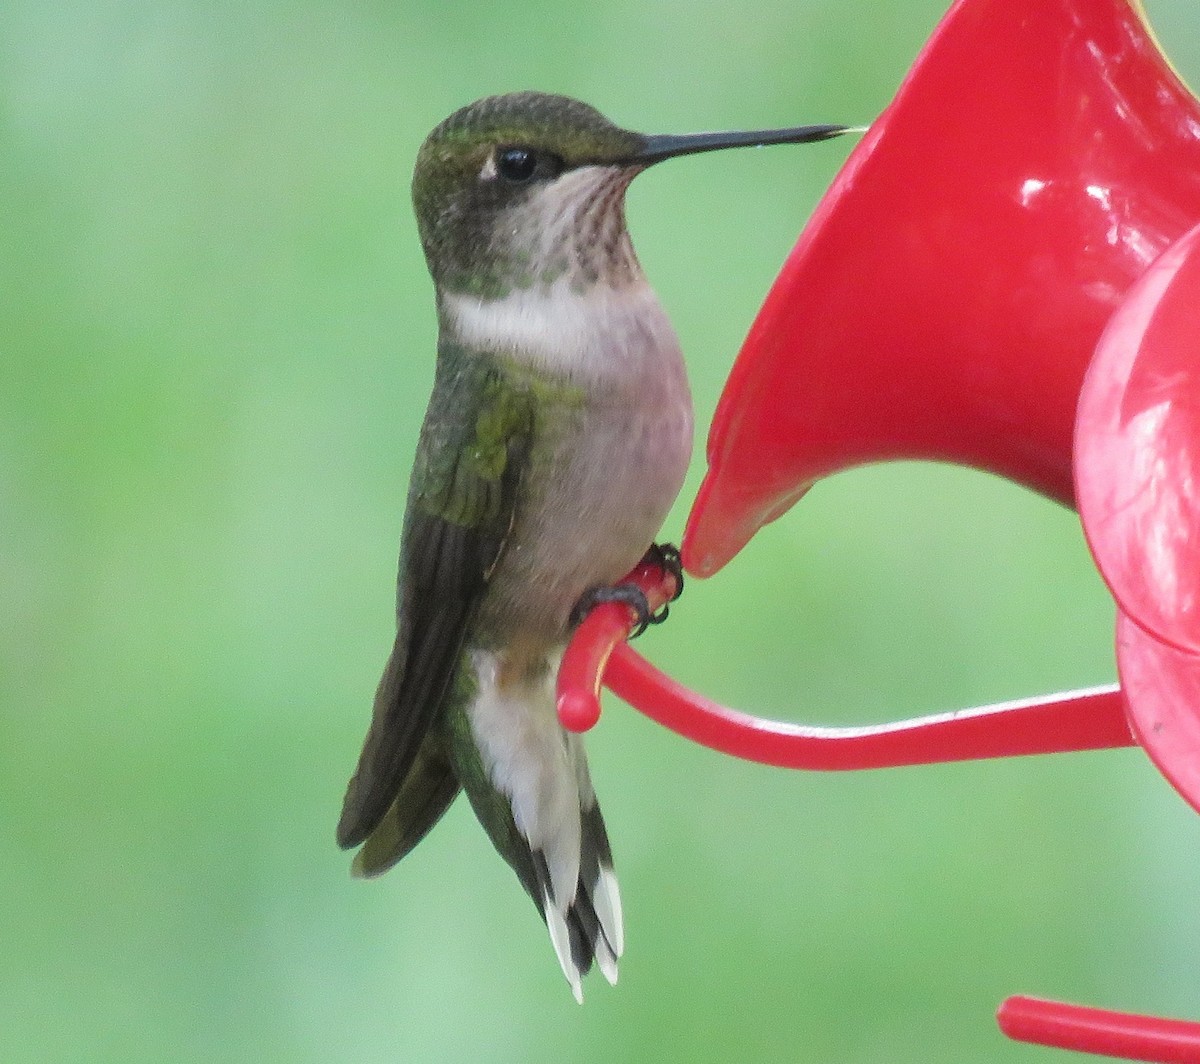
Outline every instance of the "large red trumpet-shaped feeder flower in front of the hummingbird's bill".
<path fill-rule="evenodd" d="M 683 541 L 710 576 L 822 476 L 930 458 L 1063 503 L 1109 315 L 1200 218 L 1200 106 L 1124 0 L 959 0 L 730 374 Z"/>

